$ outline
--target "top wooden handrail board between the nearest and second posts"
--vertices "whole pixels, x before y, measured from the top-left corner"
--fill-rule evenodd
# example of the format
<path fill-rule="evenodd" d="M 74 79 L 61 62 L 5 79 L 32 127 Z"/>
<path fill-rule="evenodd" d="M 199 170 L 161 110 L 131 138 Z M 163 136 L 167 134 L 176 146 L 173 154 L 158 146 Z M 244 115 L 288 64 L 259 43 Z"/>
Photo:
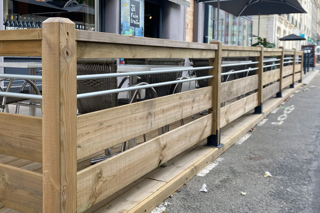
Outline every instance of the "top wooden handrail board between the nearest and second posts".
<path fill-rule="evenodd" d="M 113 33 L 101 33 L 86 30 L 76 30 L 76 41 L 98 42 L 114 44 L 132 44 L 142 46 L 179 47 L 190 49 L 218 49 L 216 44 L 182 42 L 167 39 L 147 38 L 140 36 L 127 36 Z"/>

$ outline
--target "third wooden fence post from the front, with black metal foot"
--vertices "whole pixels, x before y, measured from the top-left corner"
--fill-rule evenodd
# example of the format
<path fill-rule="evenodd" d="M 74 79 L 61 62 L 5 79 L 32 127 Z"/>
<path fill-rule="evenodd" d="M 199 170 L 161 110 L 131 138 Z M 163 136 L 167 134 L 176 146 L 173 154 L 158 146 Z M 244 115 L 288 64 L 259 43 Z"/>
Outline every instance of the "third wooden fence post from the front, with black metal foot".
<path fill-rule="evenodd" d="M 259 68 L 256 70 L 256 74 L 258 74 L 258 106 L 254 108 L 254 114 L 262 114 L 262 102 L 263 102 L 263 46 L 258 45 L 257 47 L 261 47 L 260 56 L 256 57 L 256 61 L 259 61 L 257 67 Z"/>

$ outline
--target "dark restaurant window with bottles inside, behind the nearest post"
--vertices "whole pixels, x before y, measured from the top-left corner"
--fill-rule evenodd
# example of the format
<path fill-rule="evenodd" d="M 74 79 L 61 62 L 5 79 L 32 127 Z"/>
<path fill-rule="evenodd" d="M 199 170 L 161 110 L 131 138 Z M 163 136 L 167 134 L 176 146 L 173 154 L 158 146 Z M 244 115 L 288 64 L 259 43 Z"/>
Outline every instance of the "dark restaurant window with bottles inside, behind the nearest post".
<path fill-rule="evenodd" d="M 95 31 L 95 0 L 4 0 L 4 29 L 41 28 L 50 17 L 68 18 L 76 29 Z"/>

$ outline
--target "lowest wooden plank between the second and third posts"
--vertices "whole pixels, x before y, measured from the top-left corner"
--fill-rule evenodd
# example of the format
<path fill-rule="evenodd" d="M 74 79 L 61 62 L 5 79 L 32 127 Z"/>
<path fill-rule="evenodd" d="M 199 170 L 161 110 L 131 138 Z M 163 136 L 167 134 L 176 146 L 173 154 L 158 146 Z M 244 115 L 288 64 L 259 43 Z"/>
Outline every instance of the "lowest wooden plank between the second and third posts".
<path fill-rule="evenodd" d="M 221 108 L 220 128 L 258 106 L 258 92 Z"/>

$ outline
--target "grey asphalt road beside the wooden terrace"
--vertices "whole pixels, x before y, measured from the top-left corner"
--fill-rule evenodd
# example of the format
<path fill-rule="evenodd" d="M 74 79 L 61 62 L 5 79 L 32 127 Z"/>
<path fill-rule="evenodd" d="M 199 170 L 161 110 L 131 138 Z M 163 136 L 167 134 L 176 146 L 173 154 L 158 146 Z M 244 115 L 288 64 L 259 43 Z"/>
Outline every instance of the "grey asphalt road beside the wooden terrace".
<path fill-rule="evenodd" d="M 320 75 L 266 119 L 153 212 L 319 213 Z"/>

